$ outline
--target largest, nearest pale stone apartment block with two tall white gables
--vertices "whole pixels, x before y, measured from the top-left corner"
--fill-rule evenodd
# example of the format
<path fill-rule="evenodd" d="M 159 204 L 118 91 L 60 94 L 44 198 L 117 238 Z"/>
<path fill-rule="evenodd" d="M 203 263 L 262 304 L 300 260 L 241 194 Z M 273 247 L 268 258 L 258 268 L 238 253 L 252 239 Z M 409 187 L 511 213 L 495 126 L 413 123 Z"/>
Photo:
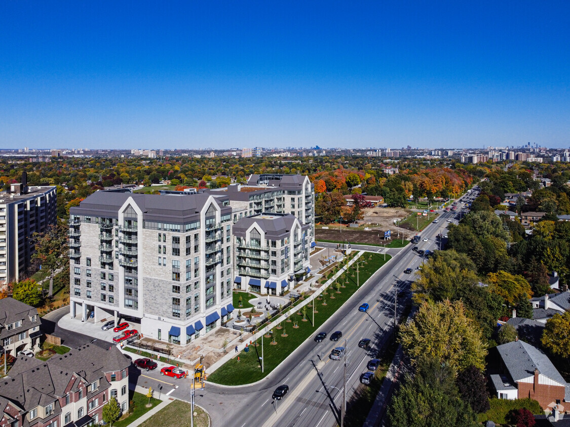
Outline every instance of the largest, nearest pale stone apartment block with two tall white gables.
<path fill-rule="evenodd" d="M 70 314 L 140 320 L 184 345 L 231 316 L 231 206 L 223 194 L 97 191 L 70 210 Z"/>

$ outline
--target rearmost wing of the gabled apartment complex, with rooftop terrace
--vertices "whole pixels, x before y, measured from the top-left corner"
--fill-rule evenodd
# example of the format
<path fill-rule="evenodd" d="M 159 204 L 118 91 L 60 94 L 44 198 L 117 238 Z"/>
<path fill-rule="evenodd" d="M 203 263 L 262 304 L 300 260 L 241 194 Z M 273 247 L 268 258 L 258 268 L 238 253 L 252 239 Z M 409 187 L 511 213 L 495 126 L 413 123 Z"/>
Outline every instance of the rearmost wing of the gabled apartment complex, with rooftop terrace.
<path fill-rule="evenodd" d="M 300 224 L 310 225 L 307 237 L 311 247 L 315 246 L 315 185 L 308 176 L 254 174 L 246 185 L 233 184 L 205 191 L 229 198 L 234 223 L 260 213 L 290 213 Z"/>

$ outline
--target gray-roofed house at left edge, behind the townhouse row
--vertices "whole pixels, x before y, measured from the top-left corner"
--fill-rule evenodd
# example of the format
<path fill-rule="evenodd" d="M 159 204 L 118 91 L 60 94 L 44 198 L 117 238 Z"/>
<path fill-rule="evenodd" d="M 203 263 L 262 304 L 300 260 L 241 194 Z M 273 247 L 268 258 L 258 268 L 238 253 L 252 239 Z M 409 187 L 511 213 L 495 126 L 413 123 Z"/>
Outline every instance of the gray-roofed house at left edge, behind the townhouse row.
<path fill-rule="evenodd" d="M 38 310 L 14 298 L 0 299 L 0 343 L 6 354 L 39 350 L 41 325 Z"/>

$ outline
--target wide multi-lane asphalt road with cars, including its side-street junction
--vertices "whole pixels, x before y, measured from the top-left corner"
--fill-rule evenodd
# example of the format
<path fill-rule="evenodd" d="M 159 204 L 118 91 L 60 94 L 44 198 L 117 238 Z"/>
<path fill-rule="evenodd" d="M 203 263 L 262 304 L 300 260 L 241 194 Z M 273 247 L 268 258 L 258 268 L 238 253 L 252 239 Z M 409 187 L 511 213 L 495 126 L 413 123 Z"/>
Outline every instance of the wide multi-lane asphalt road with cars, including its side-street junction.
<path fill-rule="evenodd" d="M 421 232 L 422 240 L 417 244 L 418 248 L 430 251 L 438 249 L 436 236 L 445 236 L 447 225 L 451 221 L 457 222 L 454 218 L 461 211 L 461 206 L 458 203 L 458 212 L 440 212 L 438 222 L 429 224 Z M 445 239 L 441 244 L 445 244 Z M 360 383 L 360 376 L 366 372 L 368 361 L 382 350 L 389 339 L 397 291 L 409 289 L 417 267 L 424 262 L 423 257 L 412 251 L 413 246 L 409 244 L 402 249 L 389 249 L 392 259 L 374 273 L 323 326 L 315 330 L 314 335 L 320 331 L 330 335 L 340 330 L 343 337 L 339 342 L 331 342 L 328 336 L 320 343 L 310 338 L 274 372 L 252 385 L 225 387 L 206 383 L 205 389 L 197 389 L 195 401 L 210 413 L 213 425 L 328 427 L 340 424 L 344 361 L 331 360 L 328 356 L 337 346 L 347 347 L 346 384 L 347 400 L 350 401 L 357 389 L 366 387 Z M 384 248 L 378 247 L 359 246 L 353 249 L 384 252 Z M 411 274 L 404 273 L 407 268 L 412 269 Z M 370 305 L 367 313 L 358 311 L 363 302 Z M 361 338 L 372 340 L 369 350 L 358 347 Z M 177 399 L 190 400 L 189 379 L 176 380 L 161 376 L 160 368 L 150 372 L 132 368 L 132 378 L 137 385 L 152 387 Z M 272 400 L 272 392 L 280 384 L 287 384 L 289 392 L 280 401 Z"/>

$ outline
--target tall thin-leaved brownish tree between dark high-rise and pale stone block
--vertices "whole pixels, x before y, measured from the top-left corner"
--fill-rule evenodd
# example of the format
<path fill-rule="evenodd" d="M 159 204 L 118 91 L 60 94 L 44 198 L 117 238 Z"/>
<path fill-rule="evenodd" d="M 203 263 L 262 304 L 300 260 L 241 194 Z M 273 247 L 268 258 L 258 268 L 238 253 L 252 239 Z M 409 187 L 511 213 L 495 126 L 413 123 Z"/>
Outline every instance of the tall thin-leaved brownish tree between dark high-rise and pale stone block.
<path fill-rule="evenodd" d="M 32 259 L 38 260 L 43 269 L 50 272 L 50 289 L 48 297 L 54 294 L 54 274 L 56 270 L 69 263 L 68 258 L 68 229 L 65 224 L 50 225 L 44 233 L 34 233 L 35 253 Z"/>

